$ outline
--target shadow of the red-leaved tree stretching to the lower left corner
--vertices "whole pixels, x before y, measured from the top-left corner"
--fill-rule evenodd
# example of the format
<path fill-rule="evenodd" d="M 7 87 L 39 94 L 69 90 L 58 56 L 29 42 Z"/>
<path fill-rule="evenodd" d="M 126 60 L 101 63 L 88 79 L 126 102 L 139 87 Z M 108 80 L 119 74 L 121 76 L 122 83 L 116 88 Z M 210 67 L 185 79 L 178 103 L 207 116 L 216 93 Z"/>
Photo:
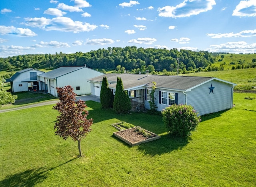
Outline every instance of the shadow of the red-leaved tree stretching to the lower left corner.
<path fill-rule="evenodd" d="M 42 183 L 47 178 L 48 171 L 52 171 L 53 169 L 60 167 L 70 161 L 73 161 L 76 158 L 73 158 L 65 163 L 62 163 L 56 167 L 52 167 L 43 171 L 43 168 L 40 167 L 38 169 L 28 169 L 23 172 L 15 173 L 13 175 L 7 175 L 5 179 L 0 181 L 1 187 L 10 187 L 10 186 L 26 186 L 33 187 L 38 183 Z"/>

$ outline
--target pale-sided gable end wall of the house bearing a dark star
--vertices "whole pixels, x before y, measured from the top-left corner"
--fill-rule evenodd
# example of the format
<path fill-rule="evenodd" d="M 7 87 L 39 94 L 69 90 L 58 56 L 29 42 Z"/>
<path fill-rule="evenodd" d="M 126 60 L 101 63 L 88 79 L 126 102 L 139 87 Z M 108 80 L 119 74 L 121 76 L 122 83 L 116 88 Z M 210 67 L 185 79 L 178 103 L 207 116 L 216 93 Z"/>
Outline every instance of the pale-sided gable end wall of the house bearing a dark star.
<path fill-rule="evenodd" d="M 213 93 L 208 89 L 211 84 L 214 87 Z M 232 85 L 219 81 L 205 83 L 187 94 L 187 104 L 192 105 L 199 115 L 218 112 L 232 106 Z"/>

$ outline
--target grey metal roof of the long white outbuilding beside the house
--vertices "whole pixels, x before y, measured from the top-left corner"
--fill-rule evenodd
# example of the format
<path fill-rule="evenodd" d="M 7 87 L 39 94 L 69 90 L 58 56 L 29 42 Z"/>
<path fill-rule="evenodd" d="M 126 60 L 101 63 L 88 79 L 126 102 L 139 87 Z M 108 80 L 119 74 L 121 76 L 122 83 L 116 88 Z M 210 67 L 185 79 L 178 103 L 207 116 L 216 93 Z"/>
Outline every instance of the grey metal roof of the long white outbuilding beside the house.
<path fill-rule="evenodd" d="M 49 79 L 56 79 L 57 77 L 61 77 L 63 75 L 66 75 L 68 73 L 71 73 L 73 71 L 77 71 L 78 69 L 82 69 L 82 68 L 86 68 L 84 66 L 72 66 L 72 67 L 59 67 L 57 69 L 53 69 L 52 71 L 46 72 L 46 73 L 42 73 L 40 75 L 38 75 L 39 77 L 45 77 L 45 78 L 49 78 Z"/>

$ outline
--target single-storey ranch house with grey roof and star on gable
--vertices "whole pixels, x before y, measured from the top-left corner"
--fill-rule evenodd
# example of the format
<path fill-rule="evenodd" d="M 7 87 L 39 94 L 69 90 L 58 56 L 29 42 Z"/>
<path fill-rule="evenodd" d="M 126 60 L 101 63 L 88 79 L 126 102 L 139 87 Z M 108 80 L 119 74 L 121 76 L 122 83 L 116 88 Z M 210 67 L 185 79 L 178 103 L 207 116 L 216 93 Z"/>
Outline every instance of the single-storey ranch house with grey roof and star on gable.
<path fill-rule="evenodd" d="M 161 111 L 172 104 L 189 104 L 199 115 L 232 108 L 233 88 L 236 84 L 214 77 L 188 77 L 142 74 L 105 74 L 94 77 L 91 94 L 100 96 L 103 77 L 115 94 L 117 77 L 122 79 L 132 102 L 132 110 L 150 109 L 151 88 L 156 83 L 154 94 L 157 110 Z"/>

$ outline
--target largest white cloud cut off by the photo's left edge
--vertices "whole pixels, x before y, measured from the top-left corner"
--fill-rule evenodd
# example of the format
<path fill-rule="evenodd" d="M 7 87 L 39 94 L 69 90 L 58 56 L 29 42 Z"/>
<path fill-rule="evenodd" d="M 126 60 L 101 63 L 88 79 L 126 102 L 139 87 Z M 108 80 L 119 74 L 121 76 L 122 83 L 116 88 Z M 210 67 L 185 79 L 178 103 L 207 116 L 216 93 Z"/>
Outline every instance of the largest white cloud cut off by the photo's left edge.
<path fill-rule="evenodd" d="M 32 37 L 37 35 L 30 29 L 15 28 L 14 26 L 10 26 L 10 27 L 0 26 L 0 34 L 1 35 L 12 34 L 12 35 L 17 35 L 21 37 Z"/>

